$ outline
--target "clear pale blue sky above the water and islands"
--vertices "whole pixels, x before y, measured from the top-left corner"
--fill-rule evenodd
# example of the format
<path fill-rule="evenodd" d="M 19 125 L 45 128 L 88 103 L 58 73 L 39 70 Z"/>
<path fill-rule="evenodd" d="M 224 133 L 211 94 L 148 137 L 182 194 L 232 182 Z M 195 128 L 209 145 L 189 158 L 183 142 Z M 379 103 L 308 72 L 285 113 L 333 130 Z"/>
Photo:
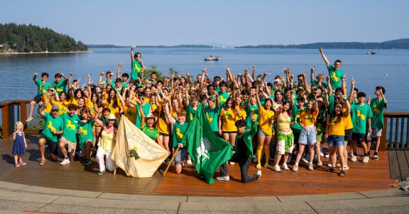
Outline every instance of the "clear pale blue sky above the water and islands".
<path fill-rule="evenodd" d="M 409 1 L 1 2 L 1 23 L 32 23 L 86 44 L 288 45 L 409 38 Z"/>

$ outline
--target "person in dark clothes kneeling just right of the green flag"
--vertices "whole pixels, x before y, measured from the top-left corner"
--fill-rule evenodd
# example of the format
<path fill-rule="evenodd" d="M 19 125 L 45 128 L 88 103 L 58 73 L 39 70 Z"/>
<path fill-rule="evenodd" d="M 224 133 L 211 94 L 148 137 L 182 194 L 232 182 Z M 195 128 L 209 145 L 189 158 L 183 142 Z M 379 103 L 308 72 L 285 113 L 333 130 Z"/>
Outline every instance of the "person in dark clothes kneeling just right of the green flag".
<path fill-rule="evenodd" d="M 253 139 L 253 135 L 255 135 L 257 132 L 256 118 L 251 117 L 251 130 L 246 130 L 246 120 L 237 120 L 235 125 L 237 127 L 236 153 L 231 157 L 229 162 L 236 162 L 239 164 L 241 171 L 241 182 L 247 183 L 260 179 L 261 170 L 258 170 L 256 174 L 249 176 L 249 166 L 253 157 L 253 146 L 251 144 L 251 140 Z M 224 163 L 222 167 L 220 167 L 220 174 L 221 176 L 217 177 L 217 180 L 230 180 L 227 172 L 227 163 Z"/>

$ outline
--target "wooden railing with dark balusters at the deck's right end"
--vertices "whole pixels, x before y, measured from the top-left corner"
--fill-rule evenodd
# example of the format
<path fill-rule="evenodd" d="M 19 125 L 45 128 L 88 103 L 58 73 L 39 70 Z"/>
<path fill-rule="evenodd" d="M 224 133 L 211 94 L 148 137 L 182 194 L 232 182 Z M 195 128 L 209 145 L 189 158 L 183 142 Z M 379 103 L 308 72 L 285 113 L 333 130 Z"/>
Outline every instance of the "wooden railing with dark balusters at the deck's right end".
<path fill-rule="evenodd" d="M 409 112 L 384 113 L 380 150 L 409 148 Z"/>

